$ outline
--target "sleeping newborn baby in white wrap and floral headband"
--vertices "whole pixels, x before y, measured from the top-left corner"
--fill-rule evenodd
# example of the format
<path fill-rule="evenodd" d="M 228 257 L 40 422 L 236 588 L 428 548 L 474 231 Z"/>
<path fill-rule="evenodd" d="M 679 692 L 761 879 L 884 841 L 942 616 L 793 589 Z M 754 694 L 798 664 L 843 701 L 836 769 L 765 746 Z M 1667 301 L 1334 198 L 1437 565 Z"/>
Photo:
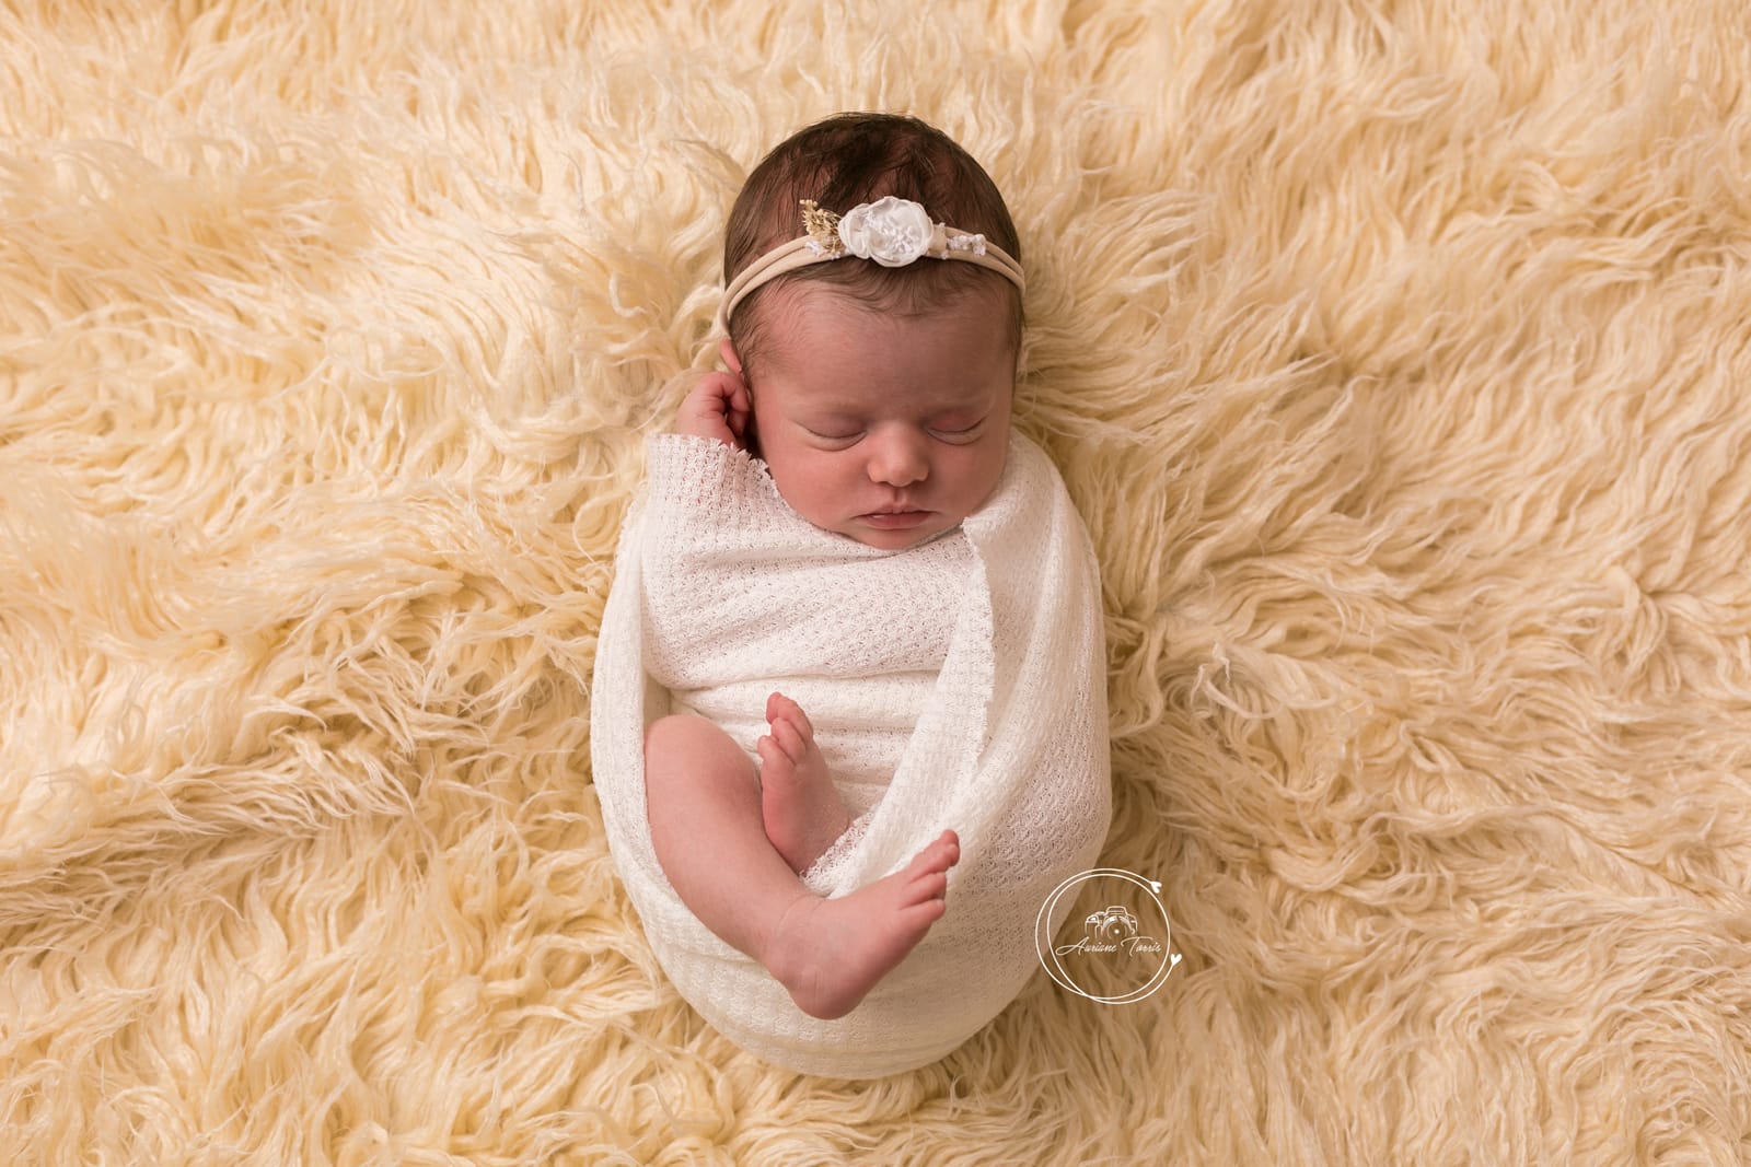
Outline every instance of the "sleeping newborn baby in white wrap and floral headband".
<path fill-rule="evenodd" d="M 622 544 L 592 717 L 616 863 L 683 994 L 800 1069 L 965 1039 L 1107 831 L 1093 555 L 1010 430 L 1019 250 L 923 122 L 781 143 L 730 215 L 727 371 L 651 441 Z"/>

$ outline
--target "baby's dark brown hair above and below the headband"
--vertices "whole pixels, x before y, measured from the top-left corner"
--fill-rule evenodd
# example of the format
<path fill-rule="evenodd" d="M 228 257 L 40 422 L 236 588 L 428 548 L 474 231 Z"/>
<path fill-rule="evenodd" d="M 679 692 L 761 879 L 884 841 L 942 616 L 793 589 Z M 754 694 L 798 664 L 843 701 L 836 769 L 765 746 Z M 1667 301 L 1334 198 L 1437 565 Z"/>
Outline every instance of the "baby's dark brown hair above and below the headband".
<path fill-rule="evenodd" d="M 847 212 L 886 194 L 923 203 L 932 219 L 975 231 L 1021 262 L 1021 240 L 991 175 L 954 138 L 916 117 L 835 114 L 772 147 L 742 184 L 723 238 L 723 282 L 802 234 L 798 203 Z M 995 280 L 1007 290 L 1014 343 L 1021 343 L 1021 292 L 995 271 L 963 262 L 809 264 L 755 289 L 730 313 L 730 341 L 746 367 L 758 350 L 762 294 L 791 280 L 832 283 L 865 304 L 918 315 Z"/>

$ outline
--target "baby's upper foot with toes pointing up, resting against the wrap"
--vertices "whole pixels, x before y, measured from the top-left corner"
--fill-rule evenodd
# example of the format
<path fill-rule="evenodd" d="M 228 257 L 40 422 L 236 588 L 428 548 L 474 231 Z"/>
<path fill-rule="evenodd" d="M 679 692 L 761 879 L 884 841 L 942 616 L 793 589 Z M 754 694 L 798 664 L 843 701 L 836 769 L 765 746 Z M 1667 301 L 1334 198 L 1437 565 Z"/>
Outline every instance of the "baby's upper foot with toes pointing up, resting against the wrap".
<path fill-rule="evenodd" d="M 772 847 L 802 875 L 846 833 L 851 815 L 814 744 L 814 726 L 797 702 L 783 693 L 769 696 L 767 723 L 772 733 L 755 744 L 760 751 L 760 817 Z"/>

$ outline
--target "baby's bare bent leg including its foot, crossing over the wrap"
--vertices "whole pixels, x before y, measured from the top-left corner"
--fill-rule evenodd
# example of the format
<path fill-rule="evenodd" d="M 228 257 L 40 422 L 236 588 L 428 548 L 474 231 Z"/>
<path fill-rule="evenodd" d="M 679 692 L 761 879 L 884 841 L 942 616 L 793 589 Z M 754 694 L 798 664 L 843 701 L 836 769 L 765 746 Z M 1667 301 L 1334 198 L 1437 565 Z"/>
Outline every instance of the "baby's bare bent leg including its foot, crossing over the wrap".
<path fill-rule="evenodd" d="M 702 717 L 644 731 L 644 803 L 657 861 L 681 901 L 767 968 L 805 1013 L 844 1017 L 944 912 L 953 831 L 895 875 L 840 899 L 797 878 L 767 840 L 753 763 Z"/>

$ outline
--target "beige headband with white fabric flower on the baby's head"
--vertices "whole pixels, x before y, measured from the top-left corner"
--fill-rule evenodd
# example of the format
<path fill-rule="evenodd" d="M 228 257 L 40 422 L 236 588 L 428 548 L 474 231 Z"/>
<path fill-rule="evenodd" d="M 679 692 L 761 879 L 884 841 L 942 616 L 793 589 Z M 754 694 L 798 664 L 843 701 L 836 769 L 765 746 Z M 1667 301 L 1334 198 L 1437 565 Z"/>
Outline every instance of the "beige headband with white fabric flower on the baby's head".
<path fill-rule="evenodd" d="M 996 271 L 1017 289 L 1023 289 L 1021 264 L 982 234 L 968 234 L 940 222 L 932 222 L 930 212 L 905 198 L 888 196 L 874 203 L 858 203 L 844 215 L 821 210 L 814 199 L 802 199 L 802 231 L 790 243 L 781 243 L 753 261 L 730 280 L 718 308 L 718 331 L 730 331 L 730 313 L 762 283 L 781 275 L 826 262 L 828 259 L 874 259 L 883 268 L 905 268 L 930 255 L 932 259 L 963 259 Z"/>

